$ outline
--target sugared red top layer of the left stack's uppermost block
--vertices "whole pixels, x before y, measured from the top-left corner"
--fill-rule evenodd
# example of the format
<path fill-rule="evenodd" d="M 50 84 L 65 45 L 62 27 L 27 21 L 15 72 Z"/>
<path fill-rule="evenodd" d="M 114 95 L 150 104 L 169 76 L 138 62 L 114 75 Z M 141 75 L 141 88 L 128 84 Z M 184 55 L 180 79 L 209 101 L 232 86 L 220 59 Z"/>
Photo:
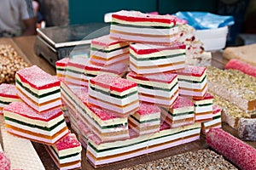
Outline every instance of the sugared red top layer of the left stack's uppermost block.
<path fill-rule="evenodd" d="M 32 88 L 38 90 L 60 86 L 60 81 L 57 77 L 49 75 L 37 65 L 17 71 L 16 74 L 20 77 L 21 82 L 26 82 Z"/>

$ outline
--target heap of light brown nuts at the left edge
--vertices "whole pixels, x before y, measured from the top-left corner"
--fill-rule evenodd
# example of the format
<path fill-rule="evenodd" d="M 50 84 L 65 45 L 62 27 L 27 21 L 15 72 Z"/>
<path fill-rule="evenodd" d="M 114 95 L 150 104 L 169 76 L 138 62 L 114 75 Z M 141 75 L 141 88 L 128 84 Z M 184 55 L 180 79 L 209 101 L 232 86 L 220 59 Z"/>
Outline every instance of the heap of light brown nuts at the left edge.
<path fill-rule="evenodd" d="M 15 73 L 29 65 L 11 45 L 0 45 L 0 83 L 14 83 Z"/>

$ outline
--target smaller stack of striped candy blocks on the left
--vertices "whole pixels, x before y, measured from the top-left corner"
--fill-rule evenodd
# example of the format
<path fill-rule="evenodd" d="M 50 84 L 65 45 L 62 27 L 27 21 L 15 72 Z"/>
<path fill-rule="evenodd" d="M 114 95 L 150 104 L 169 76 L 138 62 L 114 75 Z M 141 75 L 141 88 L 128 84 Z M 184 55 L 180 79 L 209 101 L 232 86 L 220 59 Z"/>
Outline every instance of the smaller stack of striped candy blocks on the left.
<path fill-rule="evenodd" d="M 1 84 L 1 110 L 3 108 L 7 132 L 49 148 L 55 148 L 56 144 L 63 146 L 61 150 L 71 146 L 67 136 L 73 134 L 69 132 L 61 111 L 60 85 L 57 77 L 50 76 L 36 65 L 17 71 L 15 85 Z M 76 153 L 69 154 L 70 150 L 67 150 L 59 156 L 56 156 L 59 154 L 57 149 L 50 151 L 55 156 L 56 165 L 67 169 L 81 167 L 81 150 L 80 145 Z"/>

